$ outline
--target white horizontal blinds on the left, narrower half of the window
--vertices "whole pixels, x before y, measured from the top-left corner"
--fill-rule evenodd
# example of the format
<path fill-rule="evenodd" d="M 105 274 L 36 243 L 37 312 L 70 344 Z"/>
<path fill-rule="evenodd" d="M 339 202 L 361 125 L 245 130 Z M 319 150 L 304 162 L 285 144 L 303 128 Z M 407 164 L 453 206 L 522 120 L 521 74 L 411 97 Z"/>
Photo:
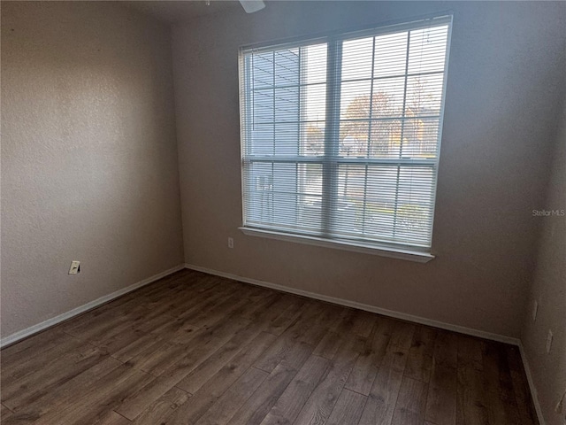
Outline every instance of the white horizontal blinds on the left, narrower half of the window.
<path fill-rule="evenodd" d="M 245 225 L 318 235 L 326 44 L 244 55 Z"/>

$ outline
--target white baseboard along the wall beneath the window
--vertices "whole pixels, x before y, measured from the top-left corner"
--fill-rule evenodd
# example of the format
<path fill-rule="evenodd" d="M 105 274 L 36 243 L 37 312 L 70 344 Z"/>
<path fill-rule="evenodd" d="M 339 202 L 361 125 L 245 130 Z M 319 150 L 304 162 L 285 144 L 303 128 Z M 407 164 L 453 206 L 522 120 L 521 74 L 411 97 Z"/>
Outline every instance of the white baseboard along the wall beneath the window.
<path fill-rule="evenodd" d="M 428 325 L 434 328 L 452 330 L 454 332 L 459 332 L 461 334 L 478 336 L 480 338 L 485 338 L 492 341 L 498 341 L 500 343 L 520 345 L 520 341 L 518 338 L 513 338 L 510 336 L 493 334 L 491 332 L 486 332 L 484 330 L 478 330 L 474 328 L 465 328 L 463 326 L 453 325 L 451 323 L 445 323 L 443 321 L 433 321 L 432 319 L 426 319 L 424 317 L 415 316 L 413 314 L 394 312 L 393 310 L 387 310 L 385 308 L 376 307 L 375 305 L 362 304 L 356 301 L 350 301 L 348 299 L 328 297 L 326 295 L 317 294 L 316 292 L 310 292 L 308 290 L 297 290 L 295 288 L 289 288 L 288 286 L 279 285 L 277 283 L 259 281 L 257 279 L 250 279 L 249 277 L 243 277 L 235 274 L 220 272 L 218 270 L 213 270 L 207 267 L 195 266 L 193 264 L 185 264 L 185 267 L 191 270 L 196 270 L 198 272 L 215 274 L 217 276 L 226 277 L 228 279 L 233 279 L 234 281 L 251 283 L 252 285 L 263 286 L 265 288 L 271 288 L 272 290 L 280 290 L 295 295 L 301 295 L 302 297 L 315 298 L 321 301 L 326 301 L 328 303 L 345 305 L 347 307 L 357 308 L 359 310 L 364 310 L 370 313 L 383 314 L 384 316 L 393 317 L 394 319 L 401 319 L 402 321 L 412 321 L 415 323 L 420 323 L 422 325 Z"/>

